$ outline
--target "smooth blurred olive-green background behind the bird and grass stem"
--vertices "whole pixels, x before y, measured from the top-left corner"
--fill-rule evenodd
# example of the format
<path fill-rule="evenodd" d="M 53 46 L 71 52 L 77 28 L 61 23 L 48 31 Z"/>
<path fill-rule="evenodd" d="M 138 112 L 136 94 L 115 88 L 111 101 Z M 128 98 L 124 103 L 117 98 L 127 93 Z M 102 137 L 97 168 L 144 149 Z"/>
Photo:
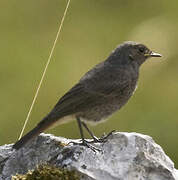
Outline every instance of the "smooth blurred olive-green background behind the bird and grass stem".
<path fill-rule="evenodd" d="M 20 134 L 66 2 L 0 1 L 1 145 L 13 143 Z M 97 136 L 112 129 L 150 135 L 178 168 L 177 19 L 177 0 L 72 0 L 25 132 L 117 44 L 139 41 L 164 57 L 146 62 L 129 103 L 91 129 Z M 80 137 L 75 121 L 48 132 Z"/>

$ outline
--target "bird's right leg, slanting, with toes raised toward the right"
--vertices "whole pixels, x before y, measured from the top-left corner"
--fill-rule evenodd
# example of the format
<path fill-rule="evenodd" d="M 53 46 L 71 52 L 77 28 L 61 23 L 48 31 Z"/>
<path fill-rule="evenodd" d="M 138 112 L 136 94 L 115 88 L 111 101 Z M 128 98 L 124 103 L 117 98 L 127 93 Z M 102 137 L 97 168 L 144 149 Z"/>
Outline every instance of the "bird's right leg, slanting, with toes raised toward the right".
<path fill-rule="evenodd" d="M 107 135 L 102 136 L 101 138 L 97 138 L 91 131 L 90 129 L 87 127 L 87 125 L 85 124 L 85 122 L 81 121 L 82 125 L 84 126 L 84 128 L 88 131 L 88 133 L 90 134 L 90 136 L 93 138 L 93 141 L 90 141 L 90 143 L 95 143 L 95 142 L 106 142 L 107 138 L 112 135 L 113 132 L 115 132 L 115 130 L 111 131 L 110 133 L 108 133 Z"/>

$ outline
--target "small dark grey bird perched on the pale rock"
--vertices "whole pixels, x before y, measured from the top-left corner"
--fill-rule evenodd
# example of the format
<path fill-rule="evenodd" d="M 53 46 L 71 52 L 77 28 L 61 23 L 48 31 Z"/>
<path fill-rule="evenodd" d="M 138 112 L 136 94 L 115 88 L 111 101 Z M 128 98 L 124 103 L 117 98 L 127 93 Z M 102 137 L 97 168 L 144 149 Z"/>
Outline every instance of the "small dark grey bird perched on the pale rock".
<path fill-rule="evenodd" d="M 13 145 L 13 148 L 18 150 L 43 131 L 72 119 L 77 120 L 82 145 L 91 147 L 84 138 L 83 128 L 91 135 L 93 142 L 102 142 L 113 131 L 103 138 L 97 138 L 86 122 L 102 122 L 121 109 L 134 94 L 141 65 L 150 57 L 161 56 L 142 43 L 127 41 L 118 45 L 106 60 L 84 74 L 36 127 Z"/>

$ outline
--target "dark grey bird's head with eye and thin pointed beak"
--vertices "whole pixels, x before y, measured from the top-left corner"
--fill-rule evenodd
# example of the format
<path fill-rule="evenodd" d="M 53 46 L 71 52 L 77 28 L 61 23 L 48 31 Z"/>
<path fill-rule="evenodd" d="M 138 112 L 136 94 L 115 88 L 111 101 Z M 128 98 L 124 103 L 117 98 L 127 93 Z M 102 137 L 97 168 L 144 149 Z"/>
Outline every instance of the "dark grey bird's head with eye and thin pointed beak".
<path fill-rule="evenodd" d="M 137 64 L 141 65 L 150 57 L 161 57 L 161 54 L 155 53 L 148 49 L 145 45 L 136 42 L 124 42 L 119 45 L 111 54 L 113 61 L 120 64 Z M 115 59 L 115 60 L 114 60 Z"/>

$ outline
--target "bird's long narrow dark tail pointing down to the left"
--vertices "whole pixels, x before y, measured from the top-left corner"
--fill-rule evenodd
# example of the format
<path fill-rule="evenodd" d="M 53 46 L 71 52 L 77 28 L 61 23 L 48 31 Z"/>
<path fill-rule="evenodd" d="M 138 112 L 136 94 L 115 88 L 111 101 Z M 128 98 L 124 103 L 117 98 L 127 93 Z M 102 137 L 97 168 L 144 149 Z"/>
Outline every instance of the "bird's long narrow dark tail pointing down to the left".
<path fill-rule="evenodd" d="M 28 141 L 33 139 L 34 137 L 38 136 L 40 133 L 48 129 L 51 124 L 51 121 L 48 121 L 48 117 L 44 118 L 34 129 L 24 135 L 20 140 L 18 140 L 14 145 L 13 148 L 16 150 L 20 149 L 24 146 Z"/>

